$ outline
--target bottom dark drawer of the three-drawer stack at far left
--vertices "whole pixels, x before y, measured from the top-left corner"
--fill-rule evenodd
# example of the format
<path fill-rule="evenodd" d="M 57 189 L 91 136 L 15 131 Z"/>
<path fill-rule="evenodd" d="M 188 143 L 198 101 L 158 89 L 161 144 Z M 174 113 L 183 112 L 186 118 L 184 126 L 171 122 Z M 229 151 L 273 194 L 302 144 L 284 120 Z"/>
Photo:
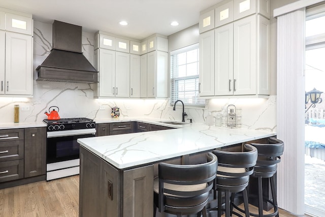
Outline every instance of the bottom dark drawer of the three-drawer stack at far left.
<path fill-rule="evenodd" d="M 24 177 L 24 160 L 0 162 L 0 182 Z"/>

